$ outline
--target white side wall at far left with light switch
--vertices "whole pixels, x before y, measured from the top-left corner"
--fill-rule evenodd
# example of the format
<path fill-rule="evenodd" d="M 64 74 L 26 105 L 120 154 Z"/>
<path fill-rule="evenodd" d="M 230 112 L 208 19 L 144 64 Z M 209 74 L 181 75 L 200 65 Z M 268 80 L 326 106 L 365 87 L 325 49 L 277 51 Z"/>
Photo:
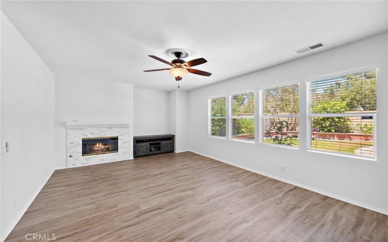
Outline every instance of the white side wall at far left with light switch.
<path fill-rule="evenodd" d="M 54 75 L 1 13 L 1 239 L 54 171 Z"/>

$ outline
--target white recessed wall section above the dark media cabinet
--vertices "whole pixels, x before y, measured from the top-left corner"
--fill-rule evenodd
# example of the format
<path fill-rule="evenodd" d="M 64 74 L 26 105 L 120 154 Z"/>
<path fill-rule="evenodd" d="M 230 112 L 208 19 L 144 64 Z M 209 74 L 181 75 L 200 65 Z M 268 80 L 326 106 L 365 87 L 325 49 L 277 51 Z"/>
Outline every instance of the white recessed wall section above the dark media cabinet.
<path fill-rule="evenodd" d="M 134 136 L 169 134 L 169 104 L 167 91 L 134 88 Z"/>

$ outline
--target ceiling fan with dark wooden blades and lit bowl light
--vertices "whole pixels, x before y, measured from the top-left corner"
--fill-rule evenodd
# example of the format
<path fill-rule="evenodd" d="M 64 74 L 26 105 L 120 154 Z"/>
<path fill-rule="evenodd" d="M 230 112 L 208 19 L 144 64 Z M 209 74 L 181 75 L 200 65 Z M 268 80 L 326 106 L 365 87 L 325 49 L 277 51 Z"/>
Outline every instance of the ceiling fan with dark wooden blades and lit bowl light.
<path fill-rule="evenodd" d="M 162 61 L 163 63 L 170 65 L 172 68 L 146 70 L 145 72 L 157 72 L 157 71 L 168 70 L 168 72 L 171 75 L 175 76 L 175 80 L 177 80 L 177 81 L 182 80 L 182 77 L 185 76 L 189 72 L 192 74 L 200 75 L 200 76 L 211 76 L 211 73 L 209 73 L 209 72 L 204 72 L 204 71 L 189 68 L 192 66 L 196 66 L 196 65 L 200 65 L 200 64 L 208 62 L 205 59 L 198 58 L 198 59 L 186 62 L 186 61 L 183 61 L 182 59 L 180 59 L 183 56 L 182 52 L 179 52 L 179 51 L 174 52 L 174 55 L 175 55 L 175 57 L 177 57 L 177 59 L 172 60 L 171 62 L 164 61 L 163 59 L 156 57 L 156 56 L 149 56 L 155 60 Z"/>

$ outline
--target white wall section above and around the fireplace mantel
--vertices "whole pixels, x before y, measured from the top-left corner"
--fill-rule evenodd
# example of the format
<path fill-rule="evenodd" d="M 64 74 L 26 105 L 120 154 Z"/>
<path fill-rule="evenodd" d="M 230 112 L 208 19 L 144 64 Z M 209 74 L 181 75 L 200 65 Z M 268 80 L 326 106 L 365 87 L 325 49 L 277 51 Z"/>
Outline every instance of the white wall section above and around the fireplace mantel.
<path fill-rule="evenodd" d="M 55 77 L 55 165 L 66 167 L 66 121 L 129 120 L 133 142 L 133 85 L 69 76 Z M 133 145 L 130 144 L 130 154 Z"/>

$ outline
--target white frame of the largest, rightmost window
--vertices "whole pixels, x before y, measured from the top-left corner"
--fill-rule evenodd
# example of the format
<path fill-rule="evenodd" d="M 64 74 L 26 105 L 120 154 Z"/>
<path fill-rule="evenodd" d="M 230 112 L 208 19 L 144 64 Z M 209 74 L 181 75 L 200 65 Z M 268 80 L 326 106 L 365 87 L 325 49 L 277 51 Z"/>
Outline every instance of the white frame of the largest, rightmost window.
<path fill-rule="evenodd" d="M 311 82 L 320 81 L 324 79 L 334 78 L 334 77 L 340 77 L 340 76 L 346 76 L 346 75 L 352 75 L 362 72 L 370 72 L 375 71 L 376 72 L 376 85 L 377 85 L 377 79 L 378 79 L 378 68 L 376 66 L 362 68 L 362 69 L 356 69 L 341 73 L 335 73 L 325 76 L 317 76 L 308 78 L 306 80 L 306 147 L 307 151 L 311 152 L 317 152 L 317 153 L 323 153 L 323 154 L 332 154 L 332 155 L 339 155 L 339 156 L 345 156 L 345 157 L 352 157 L 352 158 L 358 158 L 362 160 L 370 160 L 370 161 L 376 161 L 377 159 L 377 105 L 376 105 L 376 111 L 375 112 L 363 112 L 363 113 L 322 113 L 322 114 L 316 114 L 311 113 L 311 100 L 310 100 L 310 86 Z M 377 93 L 376 93 L 377 95 Z M 377 100 L 377 99 L 376 99 Z M 324 150 L 318 150 L 311 148 L 311 118 L 312 117 L 354 117 L 354 116 L 372 116 L 373 117 L 373 157 L 367 157 L 357 154 L 348 154 L 344 152 L 336 152 L 336 151 L 324 151 Z"/>

